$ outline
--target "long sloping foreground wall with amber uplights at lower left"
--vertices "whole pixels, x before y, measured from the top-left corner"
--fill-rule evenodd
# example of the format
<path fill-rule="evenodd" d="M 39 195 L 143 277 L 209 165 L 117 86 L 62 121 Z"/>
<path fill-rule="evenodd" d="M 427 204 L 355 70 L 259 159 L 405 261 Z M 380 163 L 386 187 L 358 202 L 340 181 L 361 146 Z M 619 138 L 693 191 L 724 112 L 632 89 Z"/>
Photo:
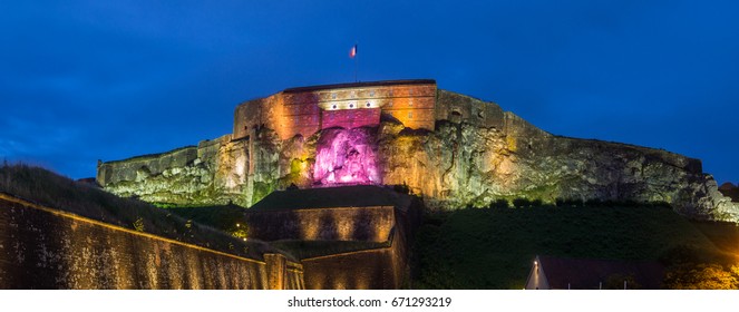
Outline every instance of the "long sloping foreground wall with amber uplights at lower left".
<path fill-rule="evenodd" d="M 302 265 L 184 244 L 0 194 L 0 289 L 303 289 Z"/>

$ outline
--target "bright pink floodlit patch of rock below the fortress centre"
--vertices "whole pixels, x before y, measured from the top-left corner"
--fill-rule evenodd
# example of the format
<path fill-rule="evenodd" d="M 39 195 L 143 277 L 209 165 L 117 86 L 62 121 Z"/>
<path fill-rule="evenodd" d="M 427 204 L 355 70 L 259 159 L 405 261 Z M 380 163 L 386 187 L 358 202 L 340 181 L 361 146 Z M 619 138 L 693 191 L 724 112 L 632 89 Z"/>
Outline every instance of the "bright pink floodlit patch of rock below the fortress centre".
<path fill-rule="evenodd" d="M 362 128 L 325 130 L 315 148 L 313 182 L 324 185 L 379 183 L 372 144 Z"/>

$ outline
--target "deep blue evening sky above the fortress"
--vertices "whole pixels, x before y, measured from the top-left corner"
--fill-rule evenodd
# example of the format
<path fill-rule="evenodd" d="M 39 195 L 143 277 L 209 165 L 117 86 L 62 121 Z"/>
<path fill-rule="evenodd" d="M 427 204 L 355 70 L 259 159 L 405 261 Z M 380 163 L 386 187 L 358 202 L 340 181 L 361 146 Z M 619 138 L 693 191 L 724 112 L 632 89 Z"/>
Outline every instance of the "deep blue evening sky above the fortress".
<path fill-rule="evenodd" d="M 357 42 L 359 80 L 436 79 L 739 182 L 739 1 L 479 2 L 2 1 L 0 158 L 81 178 L 196 145 L 241 101 L 353 81 Z"/>

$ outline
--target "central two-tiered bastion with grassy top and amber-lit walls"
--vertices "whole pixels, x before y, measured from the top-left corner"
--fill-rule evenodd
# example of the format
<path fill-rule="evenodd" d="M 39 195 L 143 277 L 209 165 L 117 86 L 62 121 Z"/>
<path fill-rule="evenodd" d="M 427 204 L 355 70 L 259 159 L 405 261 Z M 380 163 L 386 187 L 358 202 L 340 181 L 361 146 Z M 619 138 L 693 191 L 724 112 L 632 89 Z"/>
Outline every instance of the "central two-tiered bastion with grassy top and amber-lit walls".
<path fill-rule="evenodd" d="M 301 260 L 307 289 L 400 289 L 409 281 L 408 250 L 421 206 L 378 186 L 283 191 L 249 209 L 245 220 L 250 237 L 263 241 L 383 243 Z"/>

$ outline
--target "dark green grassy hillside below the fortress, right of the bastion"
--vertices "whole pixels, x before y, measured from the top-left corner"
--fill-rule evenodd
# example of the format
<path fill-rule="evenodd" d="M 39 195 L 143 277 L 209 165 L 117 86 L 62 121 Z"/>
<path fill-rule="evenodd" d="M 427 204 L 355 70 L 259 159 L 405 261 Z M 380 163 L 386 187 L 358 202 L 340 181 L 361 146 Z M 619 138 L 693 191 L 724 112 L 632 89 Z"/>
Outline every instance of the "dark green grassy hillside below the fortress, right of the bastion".
<path fill-rule="evenodd" d="M 680 245 L 719 252 L 701 231 L 665 207 L 437 213 L 426 216 L 414 246 L 418 267 L 412 287 L 522 289 L 537 254 L 659 260 Z"/>

